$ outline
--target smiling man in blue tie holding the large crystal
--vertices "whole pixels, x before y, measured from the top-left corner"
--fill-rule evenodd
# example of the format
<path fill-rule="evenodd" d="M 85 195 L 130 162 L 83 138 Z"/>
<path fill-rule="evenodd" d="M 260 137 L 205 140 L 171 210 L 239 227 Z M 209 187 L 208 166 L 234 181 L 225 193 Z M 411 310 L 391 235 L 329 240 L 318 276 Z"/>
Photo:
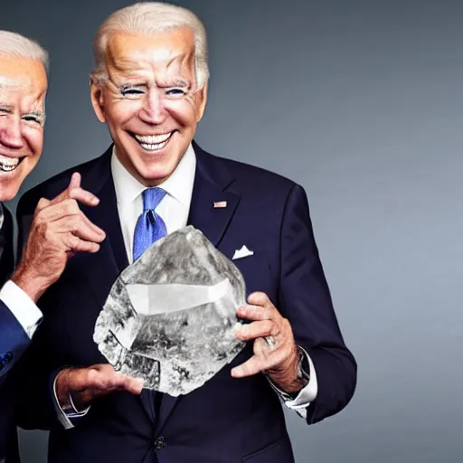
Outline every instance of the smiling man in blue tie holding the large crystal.
<path fill-rule="evenodd" d="M 356 383 L 306 194 L 194 142 L 209 72 L 203 24 L 188 10 L 123 8 L 100 26 L 94 54 L 91 101 L 114 144 L 25 194 L 18 218 L 78 173 L 99 197 L 81 213 L 106 240 L 97 253 L 74 255 L 39 302 L 45 317 L 24 363 L 36 381 L 20 382 L 19 422 L 51 430 L 51 462 L 292 462 L 280 400 L 312 424 L 342 410 Z M 92 340 L 112 284 L 139 255 L 146 213 L 156 236 L 187 224 L 203 231 L 235 258 L 249 294 L 249 305 L 237 307 L 250 321 L 236 331 L 245 349 L 177 398 L 138 396 L 141 383 L 115 386 L 109 378 L 117 373 Z"/>

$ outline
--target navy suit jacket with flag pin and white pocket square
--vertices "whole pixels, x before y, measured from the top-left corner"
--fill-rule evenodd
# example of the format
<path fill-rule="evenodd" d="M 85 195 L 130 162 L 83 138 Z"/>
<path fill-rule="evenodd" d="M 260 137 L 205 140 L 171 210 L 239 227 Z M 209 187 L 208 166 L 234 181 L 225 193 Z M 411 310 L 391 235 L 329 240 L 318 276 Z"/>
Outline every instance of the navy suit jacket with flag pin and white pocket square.
<path fill-rule="evenodd" d="M 252 257 L 235 260 L 248 294 L 267 293 L 317 370 L 318 395 L 307 423 L 335 414 L 354 393 L 356 364 L 336 322 L 304 190 L 279 175 L 207 154 L 196 144 L 194 151 L 189 224 L 229 258 L 243 244 L 254 250 Z M 21 223 L 40 197 L 61 193 L 78 171 L 82 187 L 100 198 L 99 206 L 82 210 L 107 232 L 99 252 L 73 257 L 39 303 L 44 319 L 27 363 L 37 380 L 21 392 L 20 424 L 51 430 L 51 462 L 293 462 L 279 397 L 266 378 L 231 377 L 231 368 L 252 354 L 251 344 L 201 388 L 180 398 L 165 395 L 158 420 L 150 394 L 115 392 L 93 402 L 74 429 L 63 430 L 57 422 L 51 400 L 54 372 L 105 362 L 92 341 L 93 329 L 109 289 L 128 265 L 110 156 L 111 148 L 54 176 L 19 204 Z M 226 201 L 227 207 L 213 208 L 216 201 Z"/>

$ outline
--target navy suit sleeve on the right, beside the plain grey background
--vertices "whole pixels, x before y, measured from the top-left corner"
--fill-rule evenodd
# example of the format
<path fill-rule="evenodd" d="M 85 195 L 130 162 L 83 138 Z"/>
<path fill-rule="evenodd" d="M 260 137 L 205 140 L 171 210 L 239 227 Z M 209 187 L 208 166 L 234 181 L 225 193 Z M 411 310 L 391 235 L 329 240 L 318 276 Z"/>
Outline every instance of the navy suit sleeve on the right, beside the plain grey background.
<path fill-rule="evenodd" d="M 288 194 L 280 234 L 279 310 L 296 343 L 317 372 L 317 398 L 307 407 L 308 424 L 324 420 L 350 402 L 357 365 L 345 346 L 309 216 L 307 195 L 295 185 Z"/>

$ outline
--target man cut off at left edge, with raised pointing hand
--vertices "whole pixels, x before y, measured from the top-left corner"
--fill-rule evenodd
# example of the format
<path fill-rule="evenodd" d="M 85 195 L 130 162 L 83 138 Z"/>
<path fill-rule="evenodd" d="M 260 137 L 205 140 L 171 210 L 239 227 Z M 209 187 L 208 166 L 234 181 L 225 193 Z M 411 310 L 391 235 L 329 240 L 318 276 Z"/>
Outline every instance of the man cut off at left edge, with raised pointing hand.
<path fill-rule="evenodd" d="M 69 251 L 96 252 L 105 237 L 77 202 L 98 198 L 80 175 L 52 200 L 37 204 L 23 260 L 14 273 L 13 220 L 4 202 L 17 194 L 43 150 L 48 54 L 18 33 L 0 31 L 0 462 L 19 461 L 14 426 L 14 365 L 43 314 L 35 305 L 61 276 Z M 29 378 L 30 381 L 30 378 Z"/>

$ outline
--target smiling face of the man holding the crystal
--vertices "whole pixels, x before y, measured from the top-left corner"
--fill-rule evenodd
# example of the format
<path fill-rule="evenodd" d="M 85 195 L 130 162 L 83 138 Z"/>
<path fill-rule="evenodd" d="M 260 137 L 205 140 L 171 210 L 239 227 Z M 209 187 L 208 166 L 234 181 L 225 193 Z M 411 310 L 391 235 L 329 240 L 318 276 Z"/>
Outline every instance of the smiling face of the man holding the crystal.
<path fill-rule="evenodd" d="M 172 175 L 203 117 L 207 89 L 194 72 L 194 33 L 113 33 L 108 80 L 91 83 L 93 109 L 108 124 L 119 161 L 146 186 Z"/>

